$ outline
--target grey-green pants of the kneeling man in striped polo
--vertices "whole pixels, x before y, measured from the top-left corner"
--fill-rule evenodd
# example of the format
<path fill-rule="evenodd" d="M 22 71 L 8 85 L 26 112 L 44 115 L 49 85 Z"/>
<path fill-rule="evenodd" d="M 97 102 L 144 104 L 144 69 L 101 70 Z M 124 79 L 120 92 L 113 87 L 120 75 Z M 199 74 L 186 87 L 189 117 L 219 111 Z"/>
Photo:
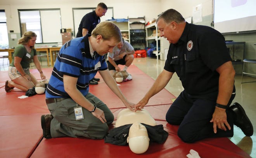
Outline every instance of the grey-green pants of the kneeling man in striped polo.
<path fill-rule="evenodd" d="M 91 112 L 83 109 L 82 120 L 76 120 L 74 107 L 76 102 L 71 98 L 59 101 L 57 103 L 47 104 L 48 109 L 54 116 L 51 122 L 51 136 L 54 137 L 87 137 L 91 139 L 102 139 L 108 132 L 108 124 L 114 121 L 114 115 L 99 98 L 88 93 L 85 98 L 97 108 L 104 111 L 107 123 L 102 123 L 99 118 L 92 115 Z"/>

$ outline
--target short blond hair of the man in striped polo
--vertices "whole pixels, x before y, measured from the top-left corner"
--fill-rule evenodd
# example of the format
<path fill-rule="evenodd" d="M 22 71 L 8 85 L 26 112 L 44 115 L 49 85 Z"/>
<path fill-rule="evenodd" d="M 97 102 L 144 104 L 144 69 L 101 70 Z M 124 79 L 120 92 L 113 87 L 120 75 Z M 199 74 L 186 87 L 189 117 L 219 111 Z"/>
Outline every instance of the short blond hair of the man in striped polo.
<path fill-rule="evenodd" d="M 111 21 L 100 22 L 92 31 L 92 36 L 96 38 L 101 35 L 104 40 L 114 40 L 119 43 L 122 41 L 122 34 L 119 27 Z"/>

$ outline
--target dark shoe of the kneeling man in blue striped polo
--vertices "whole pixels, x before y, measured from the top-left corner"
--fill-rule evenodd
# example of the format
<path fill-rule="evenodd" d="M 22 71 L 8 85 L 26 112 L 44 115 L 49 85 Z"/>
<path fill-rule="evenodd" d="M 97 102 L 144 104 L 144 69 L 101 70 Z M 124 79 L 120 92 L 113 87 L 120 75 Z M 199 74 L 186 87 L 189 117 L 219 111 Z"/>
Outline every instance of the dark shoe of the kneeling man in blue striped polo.
<path fill-rule="evenodd" d="M 52 118 L 52 114 L 41 116 L 41 127 L 43 129 L 43 137 L 45 137 L 46 139 L 52 138 L 50 130 Z"/>

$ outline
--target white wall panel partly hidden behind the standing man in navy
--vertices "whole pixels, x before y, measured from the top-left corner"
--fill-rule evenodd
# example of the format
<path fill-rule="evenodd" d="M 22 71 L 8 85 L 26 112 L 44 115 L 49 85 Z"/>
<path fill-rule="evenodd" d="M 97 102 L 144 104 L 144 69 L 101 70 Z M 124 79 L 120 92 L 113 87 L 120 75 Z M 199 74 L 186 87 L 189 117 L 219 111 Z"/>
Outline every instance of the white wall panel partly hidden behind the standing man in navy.
<path fill-rule="evenodd" d="M 76 33 L 78 32 L 78 27 L 83 16 L 95 9 L 96 8 L 73 8 L 74 36 L 76 36 Z M 100 17 L 100 22 L 112 19 L 112 17 L 114 17 L 113 12 L 113 7 L 107 7 L 107 13 L 105 16 Z"/>

